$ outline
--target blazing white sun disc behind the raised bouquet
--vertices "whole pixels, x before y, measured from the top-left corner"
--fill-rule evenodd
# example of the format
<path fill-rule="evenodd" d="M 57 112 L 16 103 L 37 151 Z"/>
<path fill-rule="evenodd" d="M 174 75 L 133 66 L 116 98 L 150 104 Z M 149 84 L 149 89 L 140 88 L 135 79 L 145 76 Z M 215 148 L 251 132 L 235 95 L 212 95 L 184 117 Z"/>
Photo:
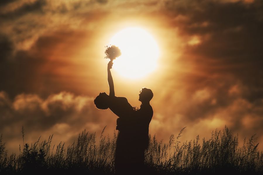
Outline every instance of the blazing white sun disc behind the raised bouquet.
<path fill-rule="evenodd" d="M 121 49 L 113 69 L 126 78 L 141 78 L 157 67 L 159 47 L 144 29 L 129 27 L 117 32 L 110 41 Z"/>

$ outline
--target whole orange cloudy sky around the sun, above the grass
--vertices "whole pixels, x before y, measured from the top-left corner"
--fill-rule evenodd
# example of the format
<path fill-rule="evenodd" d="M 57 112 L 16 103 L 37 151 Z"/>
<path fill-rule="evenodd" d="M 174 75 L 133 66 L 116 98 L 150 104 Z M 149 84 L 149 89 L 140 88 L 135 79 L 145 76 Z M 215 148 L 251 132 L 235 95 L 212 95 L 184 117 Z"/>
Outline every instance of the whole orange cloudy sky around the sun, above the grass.
<path fill-rule="evenodd" d="M 0 134 L 9 152 L 39 136 L 66 145 L 84 129 L 112 136 L 117 116 L 94 98 L 109 94 L 105 46 L 140 27 L 159 46 L 157 68 L 137 79 L 112 69 L 115 95 L 140 107 L 153 91 L 149 133 L 168 143 L 209 139 L 225 125 L 263 150 L 263 1 L 1 0 Z"/>

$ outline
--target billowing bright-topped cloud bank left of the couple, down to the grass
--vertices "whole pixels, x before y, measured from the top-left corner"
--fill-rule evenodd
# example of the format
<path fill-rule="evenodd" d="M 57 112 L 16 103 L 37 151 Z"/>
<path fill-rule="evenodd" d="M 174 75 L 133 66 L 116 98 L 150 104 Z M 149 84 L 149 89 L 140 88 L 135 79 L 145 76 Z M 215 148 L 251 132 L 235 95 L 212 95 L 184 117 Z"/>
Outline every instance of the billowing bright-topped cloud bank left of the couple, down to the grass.
<path fill-rule="evenodd" d="M 6 92 L 1 91 L 0 109 L 0 133 L 8 145 L 9 141 L 16 141 L 11 151 L 17 151 L 22 126 L 29 138 L 27 142 L 35 141 L 40 135 L 46 139 L 49 134 L 56 134 L 55 143 L 63 141 L 68 144 L 84 129 L 99 133 L 106 125 L 109 132 L 116 127 L 113 113 L 98 110 L 93 97 L 69 92 L 51 94 L 45 99 L 36 94 L 20 94 L 11 100 Z"/>

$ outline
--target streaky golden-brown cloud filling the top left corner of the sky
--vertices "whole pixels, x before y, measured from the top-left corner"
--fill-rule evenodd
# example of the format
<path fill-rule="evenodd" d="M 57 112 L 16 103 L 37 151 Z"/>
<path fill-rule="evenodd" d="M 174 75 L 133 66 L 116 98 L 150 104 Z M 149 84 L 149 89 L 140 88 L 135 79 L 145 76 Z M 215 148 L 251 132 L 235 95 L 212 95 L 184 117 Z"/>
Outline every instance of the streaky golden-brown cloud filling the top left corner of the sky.
<path fill-rule="evenodd" d="M 39 37 L 49 32 L 62 28 L 72 31 L 87 23 L 94 27 L 94 23 L 105 15 L 100 8 L 103 5 L 98 4 L 97 1 L 78 0 L 14 1 L 0 7 L 1 32 L 8 35 L 16 50 L 29 50 Z"/>

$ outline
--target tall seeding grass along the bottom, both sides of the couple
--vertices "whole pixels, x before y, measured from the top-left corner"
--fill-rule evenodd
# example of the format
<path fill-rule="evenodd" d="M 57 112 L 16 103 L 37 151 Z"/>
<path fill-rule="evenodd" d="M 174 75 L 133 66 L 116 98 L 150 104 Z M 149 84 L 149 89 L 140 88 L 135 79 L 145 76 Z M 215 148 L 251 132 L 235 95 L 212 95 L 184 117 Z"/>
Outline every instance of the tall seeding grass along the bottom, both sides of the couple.
<path fill-rule="evenodd" d="M 263 173 L 263 153 L 259 152 L 257 137 L 244 139 L 238 147 L 238 135 L 225 126 L 223 131 L 215 130 L 210 139 L 197 136 L 193 141 L 181 143 L 180 137 L 170 136 L 168 144 L 157 141 L 156 135 L 149 136 L 149 148 L 145 151 L 145 164 L 149 174 L 222 174 L 222 173 Z M 0 137 L 0 174 L 47 173 L 60 174 L 88 173 L 114 174 L 116 133 L 110 139 L 104 136 L 99 143 L 96 135 L 84 130 L 78 140 L 65 148 L 64 143 L 51 146 L 53 138 L 40 142 L 40 138 L 29 145 L 19 146 L 20 153 L 8 156 L 5 143 Z M 24 142 L 24 129 L 22 128 Z M 138 143 L 139 144 L 139 143 Z M 127 150 L 128 151 L 128 150 Z"/>

